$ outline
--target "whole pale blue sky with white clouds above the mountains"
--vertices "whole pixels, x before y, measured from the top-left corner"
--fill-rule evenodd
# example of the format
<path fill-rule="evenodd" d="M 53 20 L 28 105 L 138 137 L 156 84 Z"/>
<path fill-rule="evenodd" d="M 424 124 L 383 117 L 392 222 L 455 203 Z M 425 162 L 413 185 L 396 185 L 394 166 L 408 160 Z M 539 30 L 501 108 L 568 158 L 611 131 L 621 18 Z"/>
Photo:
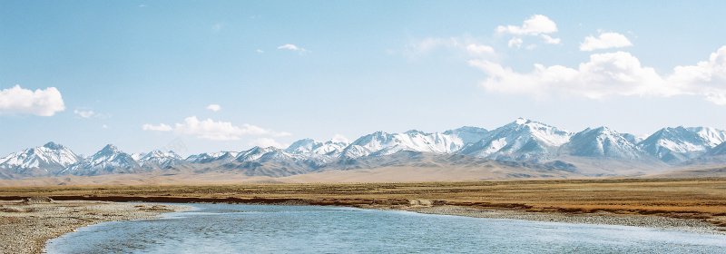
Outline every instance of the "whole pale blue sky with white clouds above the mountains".
<path fill-rule="evenodd" d="M 505 2 L 505 3 L 504 3 Z M 726 129 L 723 1 L 0 1 L 0 156 Z"/>

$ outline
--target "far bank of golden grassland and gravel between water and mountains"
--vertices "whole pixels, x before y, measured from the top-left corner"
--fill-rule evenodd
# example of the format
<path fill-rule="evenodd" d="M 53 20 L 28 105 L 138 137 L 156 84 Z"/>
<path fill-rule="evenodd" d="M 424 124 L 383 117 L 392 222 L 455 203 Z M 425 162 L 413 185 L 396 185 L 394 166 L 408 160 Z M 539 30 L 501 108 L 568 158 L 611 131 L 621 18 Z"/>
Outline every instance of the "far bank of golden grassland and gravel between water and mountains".
<path fill-rule="evenodd" d="M 726 232 L 726 179 L 55 186 L 0 188 L 0 200 L 348 206 L 468 217 Z"/>

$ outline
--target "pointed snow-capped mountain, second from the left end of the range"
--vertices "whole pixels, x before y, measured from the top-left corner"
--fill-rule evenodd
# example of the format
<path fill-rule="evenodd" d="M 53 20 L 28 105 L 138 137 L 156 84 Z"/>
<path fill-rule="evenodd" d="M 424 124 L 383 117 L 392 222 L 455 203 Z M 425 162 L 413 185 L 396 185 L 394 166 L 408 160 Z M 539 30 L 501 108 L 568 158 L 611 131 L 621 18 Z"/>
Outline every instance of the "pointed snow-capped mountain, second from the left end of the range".
<path fill-rule="evenodd" d="M 120 151 L 113 144 L 108 144 L 91 157 L 78 161 L 59 174 L 101 175 L 111 173 L 136 172 L 141 167 L 133 160 L 131 154 Z"/>

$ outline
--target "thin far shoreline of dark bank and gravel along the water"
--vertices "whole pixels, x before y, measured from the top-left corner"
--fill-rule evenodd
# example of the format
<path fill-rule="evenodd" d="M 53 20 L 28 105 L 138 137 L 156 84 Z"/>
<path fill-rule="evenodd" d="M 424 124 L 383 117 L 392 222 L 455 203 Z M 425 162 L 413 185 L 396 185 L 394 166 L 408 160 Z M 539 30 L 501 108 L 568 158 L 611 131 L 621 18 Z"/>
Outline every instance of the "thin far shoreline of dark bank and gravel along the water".
<path fill-rule="evenodd" d="M 18 197 L 0 197 L 3 199 Z M 353 207 L 373 210 L 406 210 L 424 214 L 465 216 L 473 218 L 533 220 L 564 223 L 633 226 L 662 230 L 682 230 L 710 234 L 726 234 L 726 227 L 708 220 L 699 220 L 672 213 L 613 212 L 609 210 L 532 210 L 523 204 L 460 203 L 446 200 L 407 199 L 299 199 L 299 198 L 199 198 L 139 196 L 52 196 L 54 200 L 105 201 L 113 203 L 228 203 L 258 205 L 313 205 Z"/>

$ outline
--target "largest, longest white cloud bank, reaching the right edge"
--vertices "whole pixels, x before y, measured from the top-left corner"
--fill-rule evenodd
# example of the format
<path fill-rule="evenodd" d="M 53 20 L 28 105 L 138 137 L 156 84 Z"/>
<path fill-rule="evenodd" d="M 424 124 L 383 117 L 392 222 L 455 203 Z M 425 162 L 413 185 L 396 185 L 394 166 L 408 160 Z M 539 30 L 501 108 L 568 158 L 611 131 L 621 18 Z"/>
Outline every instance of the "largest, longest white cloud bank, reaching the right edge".
<path fill-rule="evenodd" d="M 592 54 L 588 62 L 579 64 L 577 68 L 535 64 L 530 73 L 517 73 L 486 60 L 471 60 L 469 64 L 487 74 L 482 86 L 491 92 L 524 93 L 537 97 L 570 95 L 591 99 L 694 95 L 711 103 L 726 105 L 726 46 L 711 54 L 708 61 L 677 66 L 668 75 L 656 73 L 625 52 Z"/>

